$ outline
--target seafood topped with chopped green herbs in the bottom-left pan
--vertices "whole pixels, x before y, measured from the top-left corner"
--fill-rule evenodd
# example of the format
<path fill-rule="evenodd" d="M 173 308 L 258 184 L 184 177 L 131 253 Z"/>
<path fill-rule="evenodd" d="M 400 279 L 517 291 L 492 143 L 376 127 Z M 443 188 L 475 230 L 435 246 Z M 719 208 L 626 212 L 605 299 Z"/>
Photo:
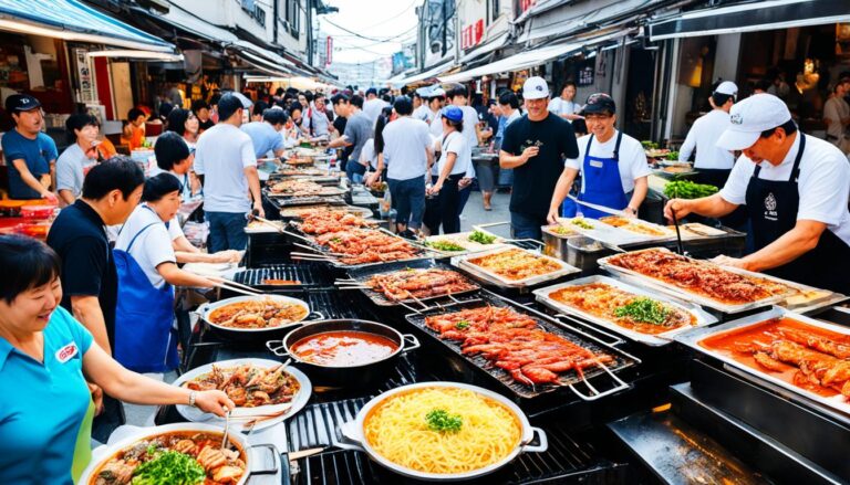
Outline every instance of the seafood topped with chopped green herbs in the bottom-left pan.
<path fill-rule="evenodd" d="M 89 485 L 165 483 L 157 479 L 163 479 L 162 468 L 168 464 L 179 466 L 169 475 L 173 481 L 236 484 L 246 473 L 245 452 L 239 449 L 221 450 L 222 437 L 221 433 L 178 431 L 139 441 L 104 463 Z M 159 475 L 153 476 L 156 473 L 153 470 L 157 467 Z"/>

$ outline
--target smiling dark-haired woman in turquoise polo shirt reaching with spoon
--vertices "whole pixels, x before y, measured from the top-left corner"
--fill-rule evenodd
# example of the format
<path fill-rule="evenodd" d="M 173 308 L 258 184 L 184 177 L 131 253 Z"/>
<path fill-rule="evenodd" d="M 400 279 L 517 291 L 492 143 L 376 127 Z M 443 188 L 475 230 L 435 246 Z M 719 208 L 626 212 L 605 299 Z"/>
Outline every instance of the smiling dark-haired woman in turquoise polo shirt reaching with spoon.
<path fill-rule="evenodd" d="M 45 244 L 0 236 L 0 483 L 71 485 L 91 460 L 90 380 L 122 401 L 189 404 L 218 415 L 221 391 L 168 386 L 128 371 L 59 306 L 61 262 Z"/>

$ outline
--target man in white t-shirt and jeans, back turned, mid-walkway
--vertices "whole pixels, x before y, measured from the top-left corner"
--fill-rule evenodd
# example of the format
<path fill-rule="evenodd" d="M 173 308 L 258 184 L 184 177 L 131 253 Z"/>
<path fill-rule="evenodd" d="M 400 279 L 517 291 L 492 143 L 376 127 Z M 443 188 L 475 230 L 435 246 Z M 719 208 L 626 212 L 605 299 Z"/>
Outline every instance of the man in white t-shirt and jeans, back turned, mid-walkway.
<path fill-rule="evenodd" d="M 428 125 L 413 119 L 413 103 L 398 97 L 393 104 L 398 118 L 384 128 L 384 159 L 388 164 L 386 181 L 395 202 L 395 224 L 400 234 L 413 235 L 422 226 L 425 212 L 425 175 L 434 164 Z M 379 160 L 377 172 L 383 170 Z"/>

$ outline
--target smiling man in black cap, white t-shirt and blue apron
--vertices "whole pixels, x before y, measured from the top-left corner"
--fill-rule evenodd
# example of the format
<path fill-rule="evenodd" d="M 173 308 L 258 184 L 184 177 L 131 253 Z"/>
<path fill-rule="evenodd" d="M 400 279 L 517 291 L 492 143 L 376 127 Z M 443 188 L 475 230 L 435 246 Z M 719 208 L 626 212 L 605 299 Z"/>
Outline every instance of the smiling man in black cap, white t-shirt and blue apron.
<path fill-rule="evenodd" d="M 581 114 L 590 134 L 578 139 L 579 157 L 567 159 L 547 219 L 550 223 L 557 222 L 561 203 L 566 218 L 580 213 L 599 219 L 620 212 L 636 217 L 649 190 L 646 178 L 652 172 L 643 146 L 614 128 L 616 106 L 611 96 L 602 93 L 590 95 Z M 579 173 L 581 190 L 578 200 L 610 211 L 583 205 L 567 197 Z"/>

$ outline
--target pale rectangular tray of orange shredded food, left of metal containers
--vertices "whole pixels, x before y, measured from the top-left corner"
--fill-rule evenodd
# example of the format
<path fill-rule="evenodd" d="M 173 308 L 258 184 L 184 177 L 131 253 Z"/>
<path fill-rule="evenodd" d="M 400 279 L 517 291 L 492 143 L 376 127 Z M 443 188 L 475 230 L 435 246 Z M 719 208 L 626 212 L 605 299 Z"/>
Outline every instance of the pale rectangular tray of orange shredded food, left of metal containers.
<path fill-rule="evenodd" d="M 532 286 L 580 272 L 561 260 L 514 246 L 453 257 L 452 264 L 506 287 Z"/>

